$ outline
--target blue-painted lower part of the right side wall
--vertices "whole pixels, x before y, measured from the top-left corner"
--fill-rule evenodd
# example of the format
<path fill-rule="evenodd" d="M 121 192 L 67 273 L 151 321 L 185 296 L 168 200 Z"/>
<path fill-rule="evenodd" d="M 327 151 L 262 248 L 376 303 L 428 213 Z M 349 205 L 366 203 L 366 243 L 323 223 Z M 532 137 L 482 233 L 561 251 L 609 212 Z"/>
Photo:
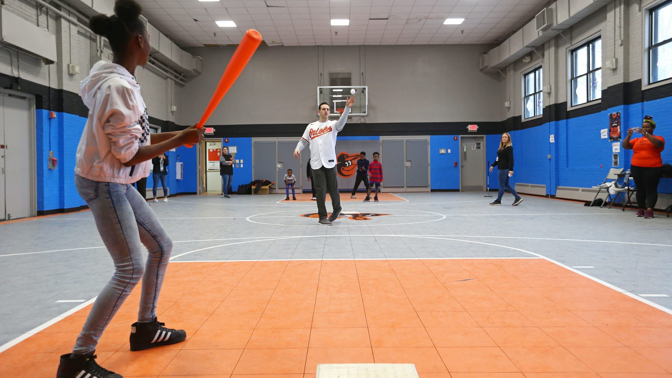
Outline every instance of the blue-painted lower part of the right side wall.
<path fill-rule="evenodd" d="M 672 97 L 639 104 L 616 106 L 603 112 L 560 120 L 511 132 L 515 158 L 515 179 L 528 184 L 546 184 L 547 194 L 557 186 L 589 188 L 612 168 L 612 142 L 601 139 L 600 130 L 608 127 L 609 114 L 621 112 L 622 138 L 628 128 L 642 124 L 644 115 L 653 116 L 656 135 L 672 141 Z M 555 143 L 550 143 L 553 134 Z M 634 135 L 640 137 L 641 135 Z M 620 144 L 620 141 L 618 142 Z M 551 155 L 549 160 L 547 155 Z M 632 151 L 620 148 L 618 167 L 630 168 Z M 663 162 L 672 161 L 672 147 L 666 146 Z M 492 182 L 491 182 L 491 187 Z M 672 180 L 663 179 L 660 193 L 672 193 Z"/>

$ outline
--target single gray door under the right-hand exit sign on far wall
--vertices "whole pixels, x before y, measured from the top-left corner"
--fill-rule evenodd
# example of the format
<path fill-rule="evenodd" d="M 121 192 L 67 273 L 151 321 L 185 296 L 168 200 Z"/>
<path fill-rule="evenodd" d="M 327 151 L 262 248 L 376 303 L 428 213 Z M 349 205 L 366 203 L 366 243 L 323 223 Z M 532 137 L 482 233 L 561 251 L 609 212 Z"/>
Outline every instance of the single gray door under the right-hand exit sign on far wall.
<path fill-rule="evenodd" d="M 485 190 L 485 138 L 460 137 L 460 191 Z"/>

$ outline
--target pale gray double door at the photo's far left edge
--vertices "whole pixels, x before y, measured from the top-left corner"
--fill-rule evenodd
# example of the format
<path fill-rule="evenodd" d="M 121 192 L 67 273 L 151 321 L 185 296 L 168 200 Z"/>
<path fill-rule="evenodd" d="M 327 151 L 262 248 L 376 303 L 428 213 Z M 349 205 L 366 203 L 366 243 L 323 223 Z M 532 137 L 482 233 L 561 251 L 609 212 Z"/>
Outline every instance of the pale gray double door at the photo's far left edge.
<path fill-rule="evenodd" d="M 0 92 L 0 220 L 35 215 L 31 130 L 28 98 Z"/>

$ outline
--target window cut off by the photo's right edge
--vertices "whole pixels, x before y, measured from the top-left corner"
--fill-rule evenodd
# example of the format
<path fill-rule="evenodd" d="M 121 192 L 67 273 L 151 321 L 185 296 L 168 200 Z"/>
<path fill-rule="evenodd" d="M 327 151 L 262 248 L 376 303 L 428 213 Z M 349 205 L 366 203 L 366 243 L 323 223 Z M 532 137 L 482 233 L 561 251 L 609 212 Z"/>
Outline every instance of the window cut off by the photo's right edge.
<path fill-rule="evenodd" d="M 656 83 L 672 77 L 672 1 L 649 12 L 649 83 Z"/>

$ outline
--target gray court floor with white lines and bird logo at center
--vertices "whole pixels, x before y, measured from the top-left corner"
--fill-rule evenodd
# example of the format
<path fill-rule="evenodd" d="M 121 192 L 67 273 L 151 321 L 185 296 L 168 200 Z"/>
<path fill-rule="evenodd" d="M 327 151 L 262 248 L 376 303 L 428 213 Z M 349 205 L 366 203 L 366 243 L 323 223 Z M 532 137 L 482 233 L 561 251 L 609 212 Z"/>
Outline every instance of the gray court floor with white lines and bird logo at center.
<path fill-rule="evenodd" d="M 672 295 L 672 218 L 523 196 L 401 193 L 343 202 L 331 227 L 284 195 L 177 196 L 151 206 L 173 261 L 352 258 L 548 258 L 634 295 Z M 363 198 L 363 196 L 362 196 Z M 367 220 L 356 220 L 366 216 Z M 114 271 L 89 212 L 0 223 L 0 345 L 97 295 Z M 672 308 L 672 297 L 646 297 Z"/>

